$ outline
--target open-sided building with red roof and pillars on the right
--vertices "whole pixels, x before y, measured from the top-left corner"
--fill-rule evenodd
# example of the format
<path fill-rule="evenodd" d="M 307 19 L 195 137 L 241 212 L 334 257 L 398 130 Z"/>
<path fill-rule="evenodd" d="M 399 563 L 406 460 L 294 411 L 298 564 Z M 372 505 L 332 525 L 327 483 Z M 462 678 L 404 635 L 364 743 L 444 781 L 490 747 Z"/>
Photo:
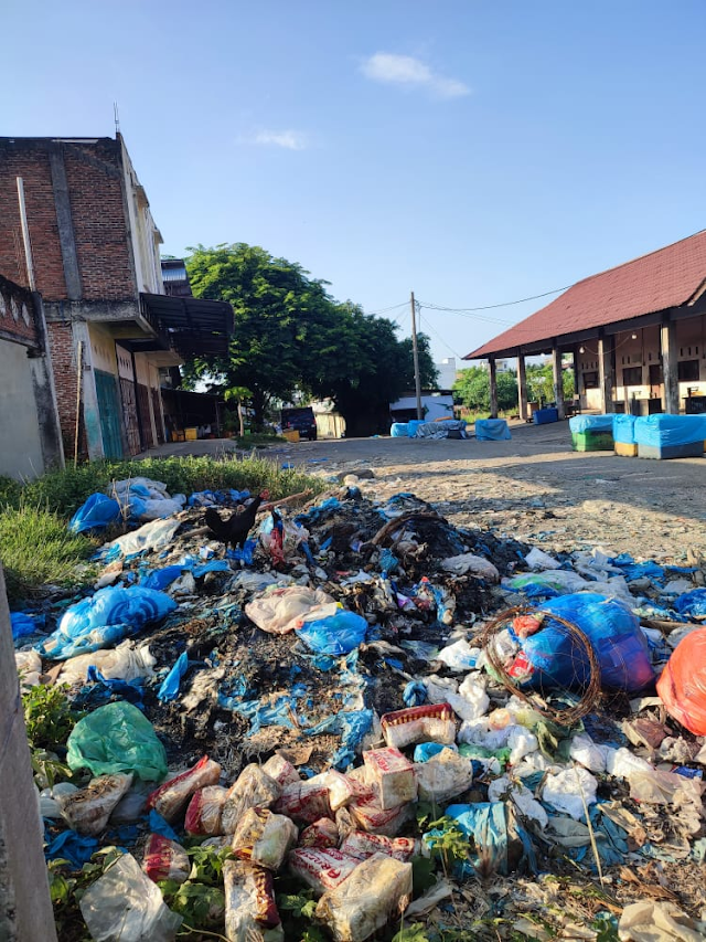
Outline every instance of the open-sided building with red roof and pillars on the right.
<path fill-rule="evenodd" d="M 584 409 L 706 411 L 706 230 L 577 282 L 464 359 L 498 368 L 499 358 L 516 357 L 527 417 L 525 361 L 543 353 L 552 354 L 560 416 L 564 354 Z M 490 381 L 492 402 L 493 369 Z"/>

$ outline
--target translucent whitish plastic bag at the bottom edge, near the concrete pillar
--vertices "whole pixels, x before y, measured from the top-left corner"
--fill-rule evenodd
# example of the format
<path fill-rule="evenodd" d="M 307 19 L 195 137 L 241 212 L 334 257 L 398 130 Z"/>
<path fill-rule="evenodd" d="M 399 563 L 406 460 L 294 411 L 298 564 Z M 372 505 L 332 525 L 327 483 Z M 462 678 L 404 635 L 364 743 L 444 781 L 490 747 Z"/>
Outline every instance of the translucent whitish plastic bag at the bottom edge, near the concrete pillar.
<path fill-rule="evenodd" d="M 174 942 L 182 923 L 131 854 L 92 883 L 78 906 L 95 942 Z"/>

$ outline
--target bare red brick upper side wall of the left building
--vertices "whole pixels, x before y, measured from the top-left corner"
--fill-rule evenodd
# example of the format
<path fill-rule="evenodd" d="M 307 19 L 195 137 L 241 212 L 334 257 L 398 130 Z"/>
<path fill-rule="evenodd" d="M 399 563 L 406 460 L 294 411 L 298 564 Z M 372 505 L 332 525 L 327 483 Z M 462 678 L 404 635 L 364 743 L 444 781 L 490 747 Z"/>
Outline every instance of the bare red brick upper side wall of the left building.
<path fill-rule="evenodd" d="M 47 301 L 67 298 L 50 146 L 45 138 L 0 138 L 0 274 L 26 286 L 17 177 L 24 199 L 36 289 Z M 120 142 L 63 141 L 66 181 L 85 300 L 137 296 L 122 194 Z"/>

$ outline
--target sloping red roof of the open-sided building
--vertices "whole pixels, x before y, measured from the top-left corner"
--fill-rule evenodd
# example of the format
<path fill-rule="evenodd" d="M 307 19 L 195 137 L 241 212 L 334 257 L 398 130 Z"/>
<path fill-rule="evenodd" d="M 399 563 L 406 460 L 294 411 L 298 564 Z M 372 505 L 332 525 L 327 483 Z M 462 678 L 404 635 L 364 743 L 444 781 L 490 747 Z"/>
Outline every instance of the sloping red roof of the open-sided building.
<path fill-rule="evenodd" d="M 509 352 L 565 334 L 678 307 L 693 298 L 704 282 L 706 230 L 577 282 L 552 304 L 464 359 Z"/>

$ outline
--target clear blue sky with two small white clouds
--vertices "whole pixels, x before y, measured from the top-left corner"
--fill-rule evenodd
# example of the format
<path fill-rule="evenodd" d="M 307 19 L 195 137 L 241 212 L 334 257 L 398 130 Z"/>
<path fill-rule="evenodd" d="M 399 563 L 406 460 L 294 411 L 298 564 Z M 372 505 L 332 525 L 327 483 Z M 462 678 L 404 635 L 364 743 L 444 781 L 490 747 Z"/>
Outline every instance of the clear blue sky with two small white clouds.
<path fill-rule="evenodd" d="M 705 224 L 703 0 L 6 0 L 2 25 L 0 134 L 111 135 L 117 100 L 165 253 L 259 244 L 368 311 L 537 295 Z M 462 356 L 544 303 L 422 328 Z"/>

